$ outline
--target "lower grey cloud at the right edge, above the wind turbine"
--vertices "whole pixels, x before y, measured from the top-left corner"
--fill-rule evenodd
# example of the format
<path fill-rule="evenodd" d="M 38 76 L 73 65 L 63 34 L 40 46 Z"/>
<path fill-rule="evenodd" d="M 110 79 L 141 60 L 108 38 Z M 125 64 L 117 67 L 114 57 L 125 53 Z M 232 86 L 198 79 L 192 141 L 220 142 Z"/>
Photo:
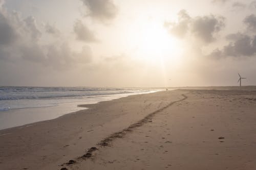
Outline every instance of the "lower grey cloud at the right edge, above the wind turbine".
<path fill-rule="evenodd" d="M 236 33 L 229 34 L 227 40 L 230 40 L 228 45 L 225 45 L 222 50 L 218 48 L 214 50 L 210 57 L 252 57 L 256 54 L 256 36 L 250 37 L 246 34 Z"/>

